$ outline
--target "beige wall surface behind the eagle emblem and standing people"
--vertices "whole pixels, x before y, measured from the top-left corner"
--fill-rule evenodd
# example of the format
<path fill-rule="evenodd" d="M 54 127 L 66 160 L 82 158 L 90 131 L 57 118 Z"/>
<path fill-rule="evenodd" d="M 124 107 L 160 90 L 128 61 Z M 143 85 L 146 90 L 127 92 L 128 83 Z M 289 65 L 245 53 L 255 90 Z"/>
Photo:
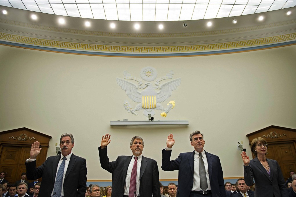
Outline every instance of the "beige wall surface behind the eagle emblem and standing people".
<path fill-rule="evenodd" d="M 193 151 L 189 133 L 200 130 L 205 150 L 220 157 L 224 177 L 243 176 L 238 141 L 250 153 L 246 134 L 271 125 L 296 128 L 295 54 L 292 45 L 213 56 L 120 58 L 0 45 L 0 131 L 27 127 L 52 136 L 48 156 L 56 154 L 62 133 L 73 133 L 73 153 L 86 158 L 87 178 L 110 180 L 97 150 L 105 133 L 111 134 L 110 160 L 131 154 L 131 137 L 139 135 L 143 155 L 158 162 L 160 179 L 176 179 L 177 171 L 160 168 L 166 137 L 174 134 L 175 159 Z M 169 99 L 176 101 L 175 108 L 166 118 L 155 110 L 155 120 L 188 120 L 188 126 L 110 126 L 116 120 L 147 120 L 143 110 L 133 115 L 123 108 L 124 100 L 133 108 L 137 103 L 116 83 L 123 71 L 141 78 L 146 66 L 157 70 L 157 78 L 170 70 L 173 79 L 182 78 Z"/>

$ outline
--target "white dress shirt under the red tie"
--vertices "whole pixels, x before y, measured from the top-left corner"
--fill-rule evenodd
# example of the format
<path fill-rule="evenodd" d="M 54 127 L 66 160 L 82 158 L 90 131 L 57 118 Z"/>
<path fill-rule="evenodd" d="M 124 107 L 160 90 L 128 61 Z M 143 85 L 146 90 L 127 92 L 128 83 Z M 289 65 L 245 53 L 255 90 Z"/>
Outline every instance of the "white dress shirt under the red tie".
<path fill-rule="evenodd" d="M 136 157 L 133 155 L 133 157 Z M 124 195 L 128 196 L 129 186 L 131 182 L 131 171 L 133 170 L 133 164 L 135 162 L 135 158 L 131 159 L 130 164 L 128 165 L 128 171 L 126 173 L 126 183 L 124 184 Z M 138 156 L 137 160 L 137 182 L 136 182 L 136 196 L 140 196 L 140 169 L 141 169 L 142 155 Z"/>

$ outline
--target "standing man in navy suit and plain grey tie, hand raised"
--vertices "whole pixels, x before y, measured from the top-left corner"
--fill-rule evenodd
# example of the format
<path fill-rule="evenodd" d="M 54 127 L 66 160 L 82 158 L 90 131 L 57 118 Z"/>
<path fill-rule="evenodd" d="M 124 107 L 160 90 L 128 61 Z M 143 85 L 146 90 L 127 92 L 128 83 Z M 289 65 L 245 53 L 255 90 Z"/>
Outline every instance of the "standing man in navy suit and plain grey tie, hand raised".
<path fill-rule="evenodd" d="M 164 171 L 179 170 L 177 196 L 226 197 L 219 157 L 205 152 L 205 140 L 200 131 L 190 133 L 189 139 L 194 151 L 180 153 L 175 160 L 170 161 L 171 148 L 175 143 L 173 134 L 168 136 L 167 148 L 163 149 L 161 168 Z"/>

